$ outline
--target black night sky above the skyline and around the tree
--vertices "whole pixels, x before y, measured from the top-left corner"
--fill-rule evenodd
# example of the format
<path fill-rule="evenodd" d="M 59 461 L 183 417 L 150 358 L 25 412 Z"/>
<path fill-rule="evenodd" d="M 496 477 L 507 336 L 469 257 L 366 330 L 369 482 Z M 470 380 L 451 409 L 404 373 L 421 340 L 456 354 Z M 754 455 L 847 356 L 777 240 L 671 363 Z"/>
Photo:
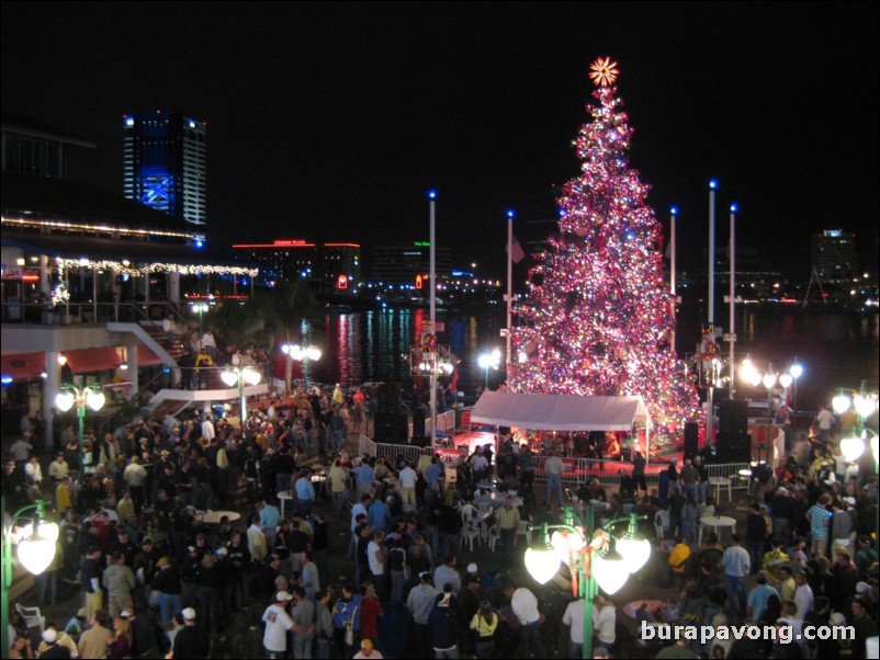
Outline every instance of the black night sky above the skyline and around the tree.
<path fill-rule="evenodd" d="M 703 250 L 714 177 L 719 244 L 736 201 L 768 265 L 806 277 L 811 232 L 843 228 L 876 272 L 878 34 L 876 7 L 843 2 L 3 2 L 2 109 L 98 141 L 80 175 L 113 191 L 124 113 L 206 121 L 221 244 L 426 239 L 436 189 L 438 243 L 500 276 L 505 212 L 554 217 L 609 55 L 681 253 Z"/>

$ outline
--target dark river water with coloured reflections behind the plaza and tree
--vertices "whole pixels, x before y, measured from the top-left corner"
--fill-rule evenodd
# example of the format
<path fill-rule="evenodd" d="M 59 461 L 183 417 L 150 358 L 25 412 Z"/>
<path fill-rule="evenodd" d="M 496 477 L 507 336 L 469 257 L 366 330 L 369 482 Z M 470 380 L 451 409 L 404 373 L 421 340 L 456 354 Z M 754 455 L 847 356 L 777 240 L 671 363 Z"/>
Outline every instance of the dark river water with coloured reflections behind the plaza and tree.
<path fill-rule="evenodd" d="M 312 329 L 312 339 L 323 344 L 324 356 L 311 364 L 309 376 L 323 383 L 346 385 L 403 382 L 409 372 L 409 348 L 417 343 L 429 318 L 427 309 L 403 308 L 327 315 Z M 504 354 L 505 340 L 499 331 L 505 327 L 505 311 L 438 310 L 437 318 L 442 323 L 440 343 L 449 344 L 461 360 L 459 389 L 470 402 L 486 379 L 486 372 L 477 365 L 480 354 L 496 348 Z M 820 401 L 828 401 L 837 387 L 857 389 L 862 379 L 869 390 L 878 389 L 877 314 L 740 309 L 736 323 L 737 363 L 748 352 L 753 359 L 772 362 L 775 369 L 787 368 L 794 357 L 804 366 L 804 375 L 798 383 L 799 409 L 815 409 Z M 700 312 L 686 304 L 678 318 L 679 355 L 693 352 L 699 340 Z M 722 343 L 725 357 L 727 350 L 727 344 Z M 503 371 L 489 371 L 489 387 L 503 380 Z M 740 391 L 756 398 L 764 396 L 748 386 Z"/>

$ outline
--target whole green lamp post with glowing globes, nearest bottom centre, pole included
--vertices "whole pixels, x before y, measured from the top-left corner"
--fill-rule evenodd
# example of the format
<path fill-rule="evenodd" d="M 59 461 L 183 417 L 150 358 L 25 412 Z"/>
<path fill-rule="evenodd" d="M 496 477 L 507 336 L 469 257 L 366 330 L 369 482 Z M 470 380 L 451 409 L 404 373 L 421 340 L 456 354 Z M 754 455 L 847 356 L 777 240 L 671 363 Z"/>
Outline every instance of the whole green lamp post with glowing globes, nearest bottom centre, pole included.
<path fill-rule="evenodd" d="M 568 566 L 572 594 L 584 600 L 582 658 L 591 658 L 593 600 L 599 588 L 613 594 L 623 587 L 630 573 L 639 571 L 647 561 L 651 544 L 639 534 L 640 516 L 634 513 L 613 519 L 595 530 L 593 504 L 585 508 L 584 520 L 568 507 L 564 512 L 563 524 L 543 523 L 539 527 L 539 538 L 526 550 L 526 568 L 532 578 L 544 584 L 556 574 L 561 562 Z M 628 523 L 627 534 L 613 538 L 611 528 L 622 522 Z M 617 549 L 612 547 L 614 543 Z"/>

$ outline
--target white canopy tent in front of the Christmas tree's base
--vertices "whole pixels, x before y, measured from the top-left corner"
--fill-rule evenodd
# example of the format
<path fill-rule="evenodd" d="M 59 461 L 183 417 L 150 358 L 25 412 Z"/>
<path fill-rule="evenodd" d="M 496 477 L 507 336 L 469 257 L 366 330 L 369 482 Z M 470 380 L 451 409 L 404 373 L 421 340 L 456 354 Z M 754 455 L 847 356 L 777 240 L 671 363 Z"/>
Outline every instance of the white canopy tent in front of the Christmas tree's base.
<path fill-rule="evenodd" d="M 625 431 L 645 424 L 650 446 L 651 416 L 642 397 L 589 397 L 484 391 L 471 411 L 471 423 L 535 431 Z"/>

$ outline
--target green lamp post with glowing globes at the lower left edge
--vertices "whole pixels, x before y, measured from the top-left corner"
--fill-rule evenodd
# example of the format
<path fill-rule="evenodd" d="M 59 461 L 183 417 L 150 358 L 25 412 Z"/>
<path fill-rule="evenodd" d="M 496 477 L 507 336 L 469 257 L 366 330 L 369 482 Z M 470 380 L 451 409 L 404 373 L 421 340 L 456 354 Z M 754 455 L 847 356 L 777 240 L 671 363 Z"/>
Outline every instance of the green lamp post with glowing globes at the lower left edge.
<path fill-rule="evenodd" d="M 19 561 L 35 576 L 42 573 L 55 557 L 55 542 L 58 540 L 58 525 L 46 522 L 46 508 L 50 502 L 38 500 L 22 507 L 7 523 L 7 499 L 2 498 L 3 555 L 2 555 L 2 604 L 0 604 L 0 626 L 2 640 L 0 649 L 3 657 L 9 652 L 9 589 L 12 587 L 12 546 L 19 546 Z M 16 524 L 27 511 L 36 510 L 36 519 L 25 519 L 23 525 Z"/>

